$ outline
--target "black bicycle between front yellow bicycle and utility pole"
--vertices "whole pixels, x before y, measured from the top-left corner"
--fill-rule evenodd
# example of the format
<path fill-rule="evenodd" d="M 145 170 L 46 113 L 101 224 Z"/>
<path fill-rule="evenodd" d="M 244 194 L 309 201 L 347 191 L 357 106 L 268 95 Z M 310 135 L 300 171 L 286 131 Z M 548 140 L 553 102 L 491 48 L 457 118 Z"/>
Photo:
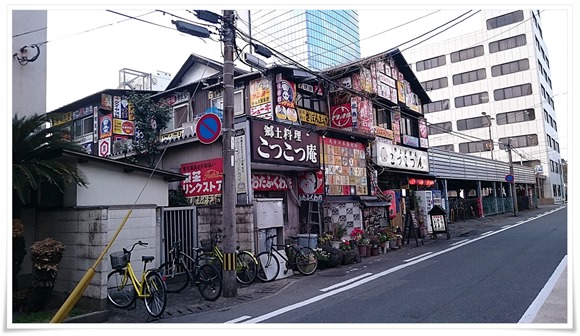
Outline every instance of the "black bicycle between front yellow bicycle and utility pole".
<path fill-rule="evenodd" d="M 208 301 L 217 300 L 222 294 L 222 277 L 219 270 L 209 264 L 201 264 L 199 247 L 193 248 L 196 257 L 192 258 L 181 250 L 181 241 L 174 242 L 169 255 L 173 259 L 159 266 L 161 277 L 168 293 L 179 293 L 187 287 L 197 286 L 201 296 Z"/>

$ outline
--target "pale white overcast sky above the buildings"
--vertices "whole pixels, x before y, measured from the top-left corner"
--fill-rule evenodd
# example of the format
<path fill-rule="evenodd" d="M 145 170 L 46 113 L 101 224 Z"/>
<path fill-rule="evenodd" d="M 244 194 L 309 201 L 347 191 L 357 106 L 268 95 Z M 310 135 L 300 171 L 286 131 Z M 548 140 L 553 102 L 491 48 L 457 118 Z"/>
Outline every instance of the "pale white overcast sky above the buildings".
<path fill-rule="evenodd" d="M 216 13 L 221 13 L 224 9 L 202 8 Z M 237 10 L 244 12 L 246 8 Z M 362 57 L 399 46 L 467 10 L 482 8 L 485 7 L 454 5 L 445 8 L 437 4 L 420 8 L 358 7 L 356 9 L 359 10 Z M 548 47 L 557 122 L 560 126 L 558 141 L 561 155 L 567 159 L 569 142 L 567 126 L 571 125 L 567 113 L 568 100 L 571 99 L 571 95 L 567 94 L 571 79 L 568 76 L 567 65 L 571 61 L 572 50 L 566 41 L 571 36 L 570 20 L 567 17 L 567 13 L 571 12 L 563 10 L 562 7 L 546 5 L 530 8 L 543 10 L 542 30 Z M 147 73 L 159 70 L 175 75 L 191 53 L 216 60 L 222 59 L 221 43 L 217 38 L 201 39 L 175 29 L 171 20 L 203 22 L 183 6 L 147 5 L 138 9 L 130 6 L 58 6 L 47 9 L 49 10 L 46 44 L 48 111 L 95 92 L 116 88 L 119 83 L 119 70 L 122 68 Z M 385 17 L 388 20 L 385 20 Z M 430 38 L 417 48 L 475 31 L 478 29 L 475 25 L 479 25 L 477 17 L 474 16 Z M 414 22 L 408 23 L 410 21 Z M 244 21 L 238 21 L 238 26 L 243 27 L 245 24 Z M 408 48 L 425 37 L 409 44 L 402 44 L 400 49 Z M 243 44 L 240 47 L 243 47 Z M 236 65 L 243 66 L 239 62 Z M 63 90 L 63 87 L 66 90 Z"/>

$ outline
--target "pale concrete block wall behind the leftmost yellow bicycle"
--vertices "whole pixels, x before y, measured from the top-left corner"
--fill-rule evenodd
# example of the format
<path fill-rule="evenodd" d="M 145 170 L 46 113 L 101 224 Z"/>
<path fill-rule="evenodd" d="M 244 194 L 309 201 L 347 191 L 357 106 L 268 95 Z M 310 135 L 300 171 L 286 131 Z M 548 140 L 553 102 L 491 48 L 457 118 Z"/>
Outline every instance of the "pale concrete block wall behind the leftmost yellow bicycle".
<path fill-rule="evenodd" d="M 59 265 L 54 295 L 62 302 L 76 288 L 87 271 L 94 266 L 106 245 L 123 222 L 129 209 L 79 208 L 39 213 L 35 227 L 35 241 L 52 237 L 65 245 Z M 158 210 L 154 205 L 133 209 L 115 242 L 96 265 L 89 286 L 82 293 L 77 306 L 89 309 L 106 309 L 107 275 L 112 270 L 109 255 L 131 247 L 138 240 L 149 243 L 135 247 L 131 262 L 138 276 L 142 273 L 141 256 L 153 255 L 160 260 L 160 226 Z M 157 264 L 148 265 L 148 268 Z"/>

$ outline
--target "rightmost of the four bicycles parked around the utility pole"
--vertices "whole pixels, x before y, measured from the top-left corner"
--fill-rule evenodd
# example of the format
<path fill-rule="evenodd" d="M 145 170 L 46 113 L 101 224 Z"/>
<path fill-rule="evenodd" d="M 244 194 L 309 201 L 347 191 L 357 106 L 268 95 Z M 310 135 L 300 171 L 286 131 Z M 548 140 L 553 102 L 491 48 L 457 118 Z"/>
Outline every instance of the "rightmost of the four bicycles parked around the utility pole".
<path fill-rule="evenodd" d="M 258 273 L 256 274 L 258 279 L 263 282 L 270 282 L 278 276 L 278 273 L 280 272 L 280 262 L 274 254 L 278 255 L 281 260 L 286 262 L 286 270 L 284 271 L 284 274 L 288 272 L 288 269 L 292 269 L 293 271 L 298 270 L 302 275 L 312 275 L 316 272 L 318 257 L 313 249 L 298 245 L 296 243 L 297 237 L 289 237 L 294 240 L 292 244 L 274 244 L 274 238 L 276 237 L 276 235 L 267 236 L 267 251 L 258 254 L 256 257 L 258 260 Z M 271 241 L 269 245 L 268 240 Z M 284 248 L 287 257 L 278 251 L 278 247 Z"/>

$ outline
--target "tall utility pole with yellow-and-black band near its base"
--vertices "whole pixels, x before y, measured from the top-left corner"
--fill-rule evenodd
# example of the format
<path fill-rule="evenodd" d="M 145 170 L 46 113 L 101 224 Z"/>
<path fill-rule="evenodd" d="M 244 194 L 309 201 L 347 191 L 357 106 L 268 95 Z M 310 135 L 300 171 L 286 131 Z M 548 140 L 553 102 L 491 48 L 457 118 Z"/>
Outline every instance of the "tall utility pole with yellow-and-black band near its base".
<path fill-rule="evenodd" d="M 224 223 L 224 297 L 237 296 L 235 241 L 236 231 L 236 190 L 235 190 L 235 150 L 234 150 L 234 39 L 235 15 L 233 10 L 222 13 L 222 34 L 224 41 L 224 126 L 223 126 L 223 182 L 222 217 Z M 229 260 L 230 262 L 226 262 Z M 232 267 L 233 265 L 233 267 Z"/>

